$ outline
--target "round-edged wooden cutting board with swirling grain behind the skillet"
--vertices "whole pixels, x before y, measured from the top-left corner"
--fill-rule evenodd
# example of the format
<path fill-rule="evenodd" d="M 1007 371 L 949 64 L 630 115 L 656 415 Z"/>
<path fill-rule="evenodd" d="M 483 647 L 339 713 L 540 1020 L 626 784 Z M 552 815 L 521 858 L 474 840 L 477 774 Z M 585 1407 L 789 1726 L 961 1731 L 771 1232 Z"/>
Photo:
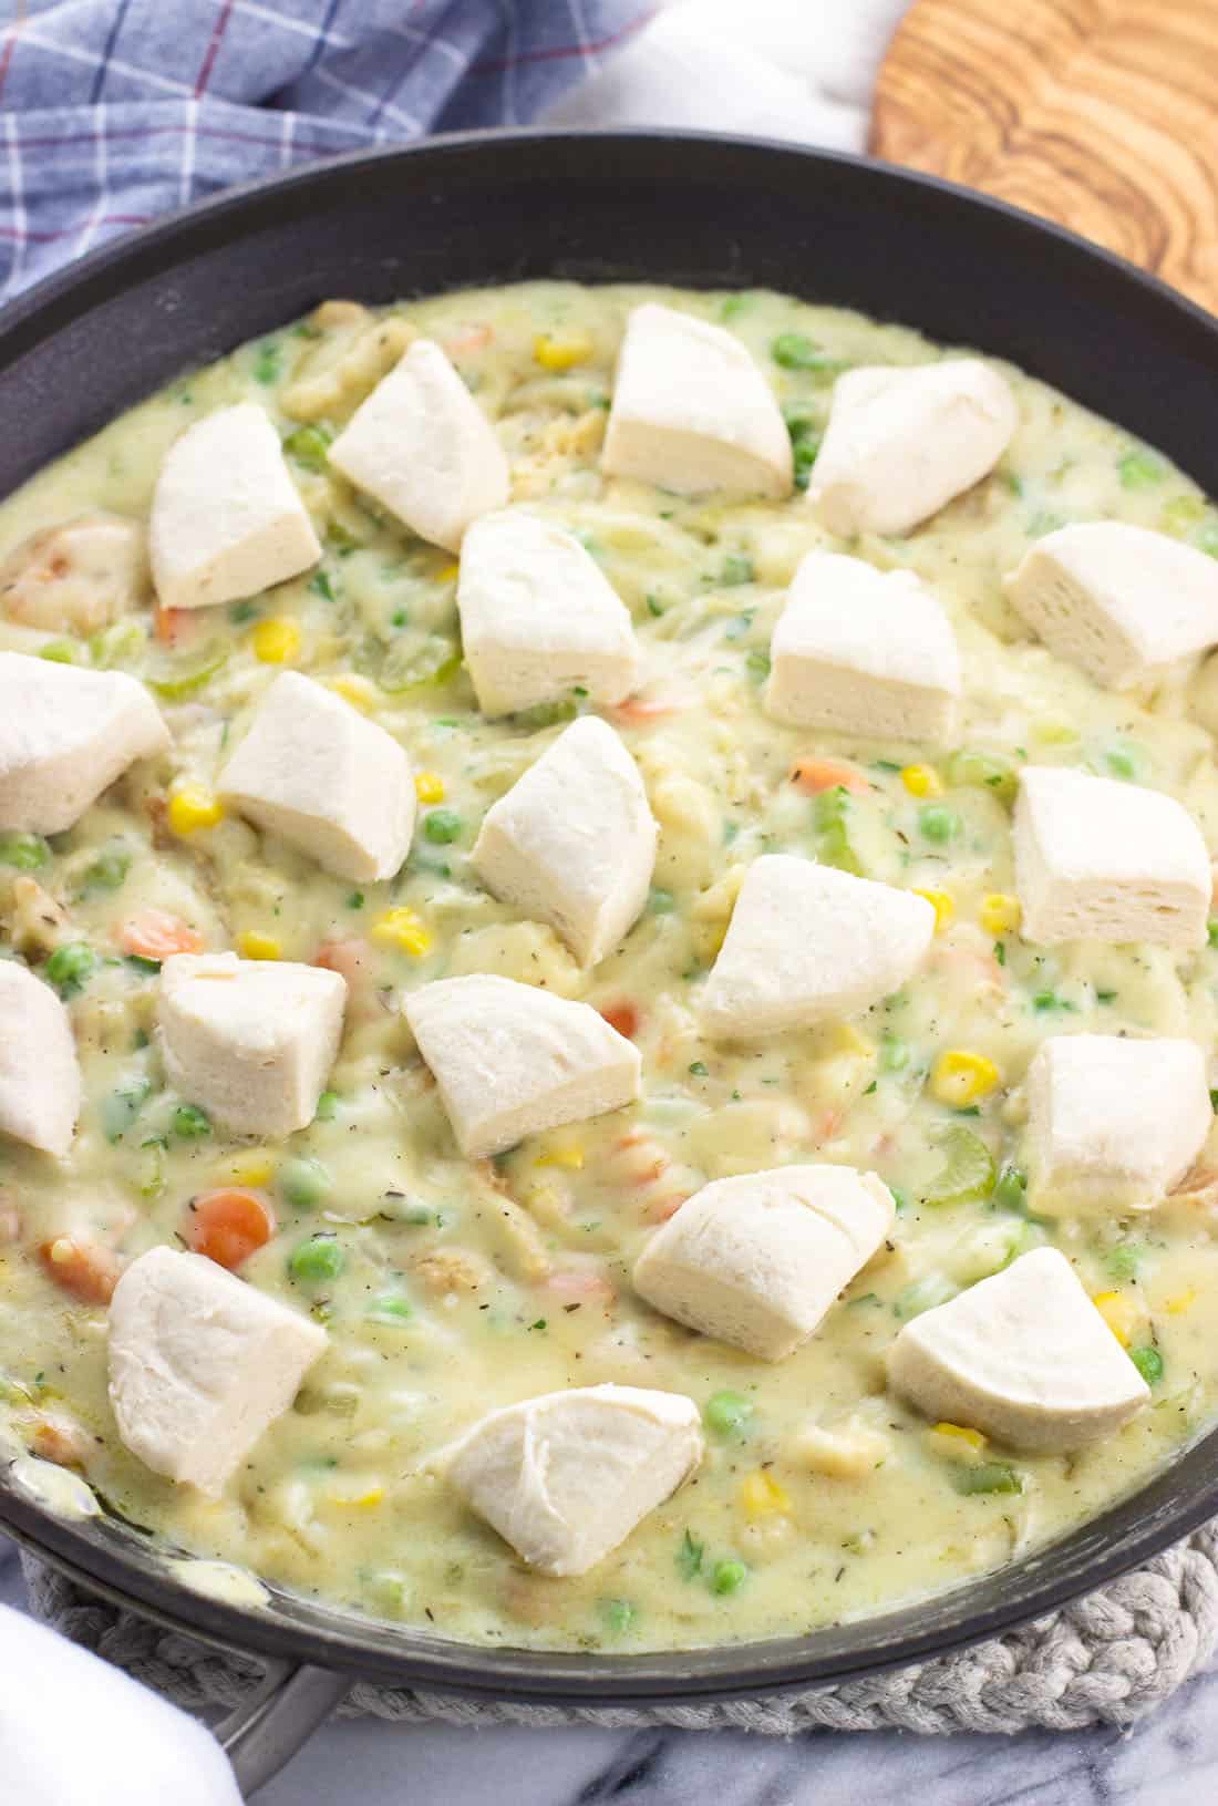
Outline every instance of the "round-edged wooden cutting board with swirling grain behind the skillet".
<path fill-rule="evenodd" d="M 914 0 L 871 152 L 1059 220 L 1218 312 L 1218 0 Z"/>

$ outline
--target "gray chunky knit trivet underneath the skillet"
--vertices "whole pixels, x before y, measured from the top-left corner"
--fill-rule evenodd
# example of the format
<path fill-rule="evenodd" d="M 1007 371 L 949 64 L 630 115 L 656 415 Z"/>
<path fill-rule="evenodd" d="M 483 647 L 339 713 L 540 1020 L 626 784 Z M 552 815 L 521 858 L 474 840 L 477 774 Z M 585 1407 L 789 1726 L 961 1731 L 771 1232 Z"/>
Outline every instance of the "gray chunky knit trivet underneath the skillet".
<path fill-rule="evenodd" d="M 235 1707 L 255 1660 L 163 1631 L 25 1562 L 34 1611 L 72 1642 L 192 1710 Z M 1175 1692 L 1218 1642 L 1218 1519 L 1137 1573 L 990 1643 L 819 1692 L 719 1705 L 575 1708 L 477 1705 L 356 1681 L 343 1712 L 454 1725 L 676 1725 L 681 1730 L 1082 1730 L 1131 1725 Z"/>

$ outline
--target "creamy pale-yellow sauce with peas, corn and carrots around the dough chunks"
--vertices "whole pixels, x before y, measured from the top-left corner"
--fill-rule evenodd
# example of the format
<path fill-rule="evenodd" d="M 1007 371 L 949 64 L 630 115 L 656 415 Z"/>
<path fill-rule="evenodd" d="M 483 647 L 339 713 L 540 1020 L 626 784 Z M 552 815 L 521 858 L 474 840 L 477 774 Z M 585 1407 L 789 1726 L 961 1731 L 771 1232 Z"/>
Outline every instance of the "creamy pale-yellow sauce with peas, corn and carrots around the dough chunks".
<path fill-rule="evenodd" d="M 801 493 L 723 504 L 605 480 L 598 446 L 622 327 L 658 293 L 531 284 L 390 311 L 450 350 L 497 423 L 515 500 L 582 536 L 643 643 L 645 684 L 611 719 L 661 824 L 660 858 L 647 912 L 593 973 L 549 928 L 497 903 L 468 863 L 488 805 L 584 699 L 486 724 L 459 666 L 454 562 L 325 471 L 327 432 L 387 367 L 367 316 L 323 311 L 184 377 L 0 509 L 0 556 L 87 509 L 146 518 L 183 426 L 253 397 L 296 435 L 291 470 L 325 542 L 318 573 L 204 610 L 168 648 L 152 638 L 148 607 L 90 641 L 0 623 L 2 645 L 54 641 L 58 656 L 152 681 L 173 731 L 170 755 L 23 852 L 36 860 L 25 876 L 69 914 L 60 939 L 92 955 L 65 982 L 87 1102 L 67 1161 L 4 1149 L 13 1239 L 0 1248 L 0 1418 L 34 1450 L 60 1447 L 103 1499 L 181 1550 L 470 1642 L 663 1649 L 893 1606 L 1092 1517 L 1160 1468 L 1216 1401 L 1209 1176 L 1137 1221 L 1039 1223 L 1012 1168 L 1019 1084 L 1037 1044 L 1128 1029 L 1191 1035 L 1209 1049 L 1218 952 L 1034 948 L 1003 925 L 1001 907 L 1014 892 L 1008 811 L 1023 760 L 1171 791 L 1218 845 L 1213 739 L 1189 715 L 1184 677 L 1153 695 L 1111 695 L 1032 645 L 999 580 L 1064 522 L 1120 518 L 1218 549 L 1218 515 L 1117 426 L 1007 367 L 1021 426 L 999 470 L 907 538 L 844 547 Z M 725 320 L 752 349 L 808 446 L 804 464 L 835 367 L 940 354 L 909 330 L 775 294 L 663 298 Z M 775 363 L 781 334 L 811 340 L 828 367 Z M 569 368 L 544 367 L 571 347 Z M 934 587 L 965 670 L 956 748 L 813 737 L 763 715 L 782 589 L 817 545 L 909 567 Z M 166 816 L 183 786 L 211 791 L 282 668 L 276 656 L 338 684 L 423 775 L 414 851 L 394 881 L 356 890 L 239 818 L 175 831 Z M 866 793 L 806 795 L 792 782 L 806 755 L 849 760 Z M 775 851 L 934 892 L 942 932 L 925 970 L 851 1022 L 757 1046 L 705 1042 L 694 1002 L 735 885 L 752 858 Z M 0 865 L 5 950 L 20 876 Z M 340 1062 L 318 1120 L 291 1143 L 226 1141 L 164 1089 L 150 1044 L 155 970 L 121 954 L 123 925 L 148 907 L 183 917 L 211 948 L 300 961 L 329 948 L 349 975 Z M 390 908 L 412 914 L 385 923 Z M 464 1163 L 398 1010 L 407 990 L 464 972 L 548 984 L 607 1011 L 643 1053 L 638 1105 L 495 1163 Z M 963 1114 L 936 1094 L 934 1062 L 949 1049 L 999 1075 L 976 1102 L 956 1100 Z M 891 1244 L 811 1342 L 768 1367 L 649 1311 L 629 1271 L 652 1226 L 701 1183 L 792 1159 L 875 1168 L 902 1210 Z M 224 1183 L 262 1190 L 278 1217 L 242 1277 L 313 1311 L 331 1345 L 228 1494 L 206 1501 L 121 1447 L 105 1308 L 67 1297 L 36 1250 L 70 1233 L 119 1257 L 173 1243 L 190 1197 Z M 342 1271 L 293 1277 L 293 1250 L 318 1233 L 342 1250 Z M 978 1450 L 884 1389 L 884 1351 L 902 1322 L 1041 1241 L 1063 1248 L 1090 1293 L 1115 1295 L 1104 1300 L 1113 1324 L 1133 1353 L 1153 1351 L 1142 1360 L 1157 1373 L 1153 1403 L 1073 1457 Z M 710 1407 L 707 1459 L 591 1575 L 539 1578 L 430 1457 L 495 1405 L 605 1380 Z M 810 1425 L 835 1441 L 808 1438 Z"/>

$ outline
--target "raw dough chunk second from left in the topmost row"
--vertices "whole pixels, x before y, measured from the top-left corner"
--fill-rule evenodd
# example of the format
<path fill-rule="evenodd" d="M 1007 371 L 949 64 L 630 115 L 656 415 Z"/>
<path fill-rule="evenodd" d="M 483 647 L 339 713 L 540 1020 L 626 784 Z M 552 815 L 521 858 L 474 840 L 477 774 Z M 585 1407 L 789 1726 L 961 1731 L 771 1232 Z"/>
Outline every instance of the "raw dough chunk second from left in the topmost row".
<path fill-rule="evenodd" d="M 412 533 L 450 553 L 511 493 L 508 459 L 439 345 L 416 340 L 329 450 L 329 462 Z"/>

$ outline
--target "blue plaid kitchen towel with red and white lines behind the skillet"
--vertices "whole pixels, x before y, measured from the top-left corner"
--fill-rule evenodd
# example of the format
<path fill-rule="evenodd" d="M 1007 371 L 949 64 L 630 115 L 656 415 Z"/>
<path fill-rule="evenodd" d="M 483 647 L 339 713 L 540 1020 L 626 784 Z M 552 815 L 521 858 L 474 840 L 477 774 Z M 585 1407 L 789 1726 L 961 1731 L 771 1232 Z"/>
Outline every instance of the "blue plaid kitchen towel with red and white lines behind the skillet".
<path fill-rule="evenodd" d="M 0 302 L 195 197 L 526 125 L 649 0 L 0 0 Z"/>

